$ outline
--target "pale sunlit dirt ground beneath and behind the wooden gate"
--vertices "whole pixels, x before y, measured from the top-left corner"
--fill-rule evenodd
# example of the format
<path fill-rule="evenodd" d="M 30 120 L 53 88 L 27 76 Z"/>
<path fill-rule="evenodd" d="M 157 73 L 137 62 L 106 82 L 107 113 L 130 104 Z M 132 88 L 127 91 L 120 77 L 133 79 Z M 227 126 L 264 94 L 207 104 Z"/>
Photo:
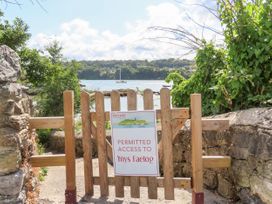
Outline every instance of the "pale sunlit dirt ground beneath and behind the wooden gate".
<path fill-rule="evenodd" d="M 98 160 L 93 160 L 94 175 L 98 176 Z M 109 176 L 113 176 L 113 168 L 109 165 Z M 77 201 L 79 203 L 191 203 L 191 192 L 183 189 L 175 189 L 175 201 L 164 200 L 163 188 L 158 190 L 158 199 L 151 200 L 147 198 L 147 188 L 141 187 L 141 198 L 130 198 L 129 187 L 125 187 L 125 198 L 114 197 L 114 187 L 111 186 L 110 196 L 107 198 L 100 198 L 99 186 L 95 186 L 94 196 L 86 201 L 84 197 L 84 171 L 83 171 L 83 159 L 76 160 L 76 183 L 77 183 Z M 45 177 L 45 181 L 40 184 L 40 204 L 52 204 L 52 203 L 64 203 L 64 191 L 65 191 L 65 168 L 64 167 L 48 167 L 48 175 Z M 209 191 L 205 191 L 205 203 L 207 204 L 226 204 L 227 200 L 215 195 Z"/>

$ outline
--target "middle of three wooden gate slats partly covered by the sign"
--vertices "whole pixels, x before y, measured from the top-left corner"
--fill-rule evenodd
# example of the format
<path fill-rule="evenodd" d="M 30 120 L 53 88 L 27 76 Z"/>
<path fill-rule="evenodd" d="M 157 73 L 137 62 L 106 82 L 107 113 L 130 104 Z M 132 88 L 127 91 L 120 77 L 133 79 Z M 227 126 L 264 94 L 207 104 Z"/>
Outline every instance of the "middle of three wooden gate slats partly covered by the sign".
<path fill-rule="evenodd" d="M 128 110 L 137 110 L 137 93 L 134 90 L 129 90 L 127 93 Z M 132 198 L 140 198 L 140 179 L 138 176 L 130 178 L 130 195 Z"/>

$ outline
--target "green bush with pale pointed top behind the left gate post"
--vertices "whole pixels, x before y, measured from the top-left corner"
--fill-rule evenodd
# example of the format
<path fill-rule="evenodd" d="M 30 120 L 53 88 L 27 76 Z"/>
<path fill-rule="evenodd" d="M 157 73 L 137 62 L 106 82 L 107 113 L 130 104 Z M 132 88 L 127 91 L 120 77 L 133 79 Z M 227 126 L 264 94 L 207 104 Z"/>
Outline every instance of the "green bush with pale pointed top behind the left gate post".
<path fill-rule="evenodd" d="M 80 64 L 71 61 L 61 60 L 61 47 L 58 42 L 54 42 L 46 47 L 50 50 L 50 56 L 47 58 L 46 68 L 49 75 L 42 82 L 37 101 L 39 114 L 41 116 L 63 115 L 63 92 L 73 90 L 75 97 L 75 110 L 79 110 L 80 105 L 80 85 L 77 72 Z"/>

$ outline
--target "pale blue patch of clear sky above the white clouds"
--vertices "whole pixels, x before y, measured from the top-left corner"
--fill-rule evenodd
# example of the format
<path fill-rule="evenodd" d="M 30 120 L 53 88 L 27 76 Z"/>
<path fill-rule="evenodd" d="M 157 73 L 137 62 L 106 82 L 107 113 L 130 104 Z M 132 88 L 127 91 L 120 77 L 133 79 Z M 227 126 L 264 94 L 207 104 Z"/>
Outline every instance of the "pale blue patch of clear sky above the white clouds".
<path fill-rule="evenodd" d="M 99 30 L 124 34 L 125 22 L 145 18 L 147 6 L 162 2 L 175 3 L 174 0 L 40 0 L 45 12 L 35 0 L 33 2 L 24 0 L 21 7 L 6 6 L 5 3 L 1 6 L 9 20 L 16 16 L 24 19 L 33 35 L 58 31 L 61 23 L 74 18 L 85 19 Z"/>

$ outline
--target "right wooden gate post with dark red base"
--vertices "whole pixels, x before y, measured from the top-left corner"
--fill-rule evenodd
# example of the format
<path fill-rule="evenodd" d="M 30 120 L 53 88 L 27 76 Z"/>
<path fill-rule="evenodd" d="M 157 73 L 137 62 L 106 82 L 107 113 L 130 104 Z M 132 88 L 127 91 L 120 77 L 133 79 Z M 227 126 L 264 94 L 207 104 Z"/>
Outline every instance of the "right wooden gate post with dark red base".
<path fill-rule="evenodd" d="M 191 94 L 192 204 L 204 204 L 201 94 Z"/>

